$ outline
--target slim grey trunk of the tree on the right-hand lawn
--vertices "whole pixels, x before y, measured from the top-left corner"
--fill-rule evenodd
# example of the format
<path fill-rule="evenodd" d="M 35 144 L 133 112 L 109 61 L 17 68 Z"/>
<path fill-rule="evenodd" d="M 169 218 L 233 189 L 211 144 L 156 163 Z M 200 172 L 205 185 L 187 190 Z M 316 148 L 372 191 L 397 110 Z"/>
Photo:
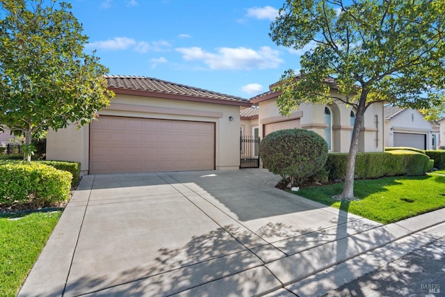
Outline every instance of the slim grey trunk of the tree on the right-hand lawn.
<path fill-rule="evenodd" d="M 362 128 L 362 120 L 364 112 L 366 111 L 366 97 L 367 92 L 362 91 L 360 96 L 360 102 L 355 114 L 355 122 L 353 129 L 353 137 L 350 141 L 348 162 L 346 163 L 346 175 L 345 184 L 343 185 L 343 191 L 341 192 L 340 200 L 354 200 L 354 177 L 355 177 L 355 159 L 357 157 L 357 151 L 359 148 L 359 136 L 360 129 Z"/>

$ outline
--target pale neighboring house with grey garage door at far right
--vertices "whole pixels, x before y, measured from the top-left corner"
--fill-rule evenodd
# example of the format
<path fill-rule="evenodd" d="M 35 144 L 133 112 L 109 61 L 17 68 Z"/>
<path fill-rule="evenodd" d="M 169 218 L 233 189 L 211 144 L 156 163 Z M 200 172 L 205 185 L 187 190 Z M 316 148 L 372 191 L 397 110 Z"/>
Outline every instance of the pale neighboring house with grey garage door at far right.
<path fill-rule="evenodd" d="M 419 111 L 385 106 L 385 146 L 436 150 L 439 138 L 439 126 Z"/>

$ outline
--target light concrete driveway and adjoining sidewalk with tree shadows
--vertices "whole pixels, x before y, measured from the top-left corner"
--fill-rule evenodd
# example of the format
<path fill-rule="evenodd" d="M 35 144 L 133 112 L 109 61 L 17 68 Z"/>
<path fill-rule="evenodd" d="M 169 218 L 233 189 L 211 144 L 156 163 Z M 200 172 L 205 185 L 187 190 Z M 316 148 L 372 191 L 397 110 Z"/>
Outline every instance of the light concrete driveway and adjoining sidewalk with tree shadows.
<path fill-rule="evenodd" d="M 82 178 L 19 296 L 317 296 L 445 236 L 280 191 L 267 170 Z"/>

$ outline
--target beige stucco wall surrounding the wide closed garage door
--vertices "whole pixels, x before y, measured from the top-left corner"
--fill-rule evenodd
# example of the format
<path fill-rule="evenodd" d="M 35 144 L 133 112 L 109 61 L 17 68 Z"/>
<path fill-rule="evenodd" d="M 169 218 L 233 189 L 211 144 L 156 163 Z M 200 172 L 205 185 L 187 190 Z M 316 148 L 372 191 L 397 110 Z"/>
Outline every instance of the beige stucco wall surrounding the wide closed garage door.
<path fill-rule="evenodd" d="M 99 111 L 99 115 L 214 122 L 216 169 L 239 168 L 239 106 L 116 94 L 111 106 Z M 89 127 L 77 130 L 72 126 L 57 132 L 49 131 L 47 159 L 79 161 L 81 170 L 88 172 L 88 131 Z"/>

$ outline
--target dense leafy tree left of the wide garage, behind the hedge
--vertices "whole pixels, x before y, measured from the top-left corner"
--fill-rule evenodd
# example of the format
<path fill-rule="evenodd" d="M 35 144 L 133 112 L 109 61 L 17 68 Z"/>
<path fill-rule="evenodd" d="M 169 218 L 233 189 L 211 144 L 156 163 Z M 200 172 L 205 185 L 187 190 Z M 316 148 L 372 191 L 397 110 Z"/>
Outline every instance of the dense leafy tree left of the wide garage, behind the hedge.
<path fill-rule="evenodd" d="M 50 127 L 79 127 L 109 104 L 99 58 L 83 53 L 88 37 L 69 3 L 0 1 L 0 124 L 23 135 L 31 160 L 33 136 Z"/>

